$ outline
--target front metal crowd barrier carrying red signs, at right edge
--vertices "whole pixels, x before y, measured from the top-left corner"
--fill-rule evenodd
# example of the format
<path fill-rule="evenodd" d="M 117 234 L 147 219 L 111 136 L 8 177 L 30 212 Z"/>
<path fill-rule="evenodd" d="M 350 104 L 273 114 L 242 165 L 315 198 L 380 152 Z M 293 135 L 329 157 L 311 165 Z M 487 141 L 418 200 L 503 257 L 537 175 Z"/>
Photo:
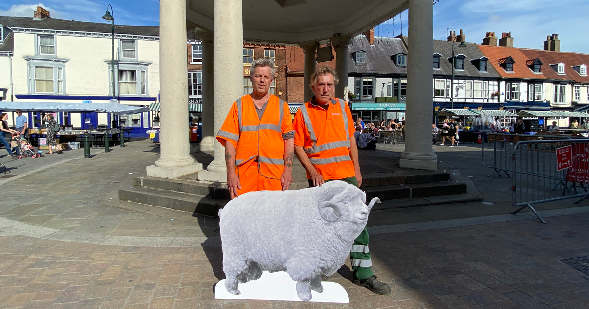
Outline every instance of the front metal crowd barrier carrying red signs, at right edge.
<path fill-rule="evenodd" d="M 512 214 L 529 207 L 546 223 L 532 204 L 589 197 L 589 139 L 519 141 L 511 154 L 513 207 L 519 207 Z"/>

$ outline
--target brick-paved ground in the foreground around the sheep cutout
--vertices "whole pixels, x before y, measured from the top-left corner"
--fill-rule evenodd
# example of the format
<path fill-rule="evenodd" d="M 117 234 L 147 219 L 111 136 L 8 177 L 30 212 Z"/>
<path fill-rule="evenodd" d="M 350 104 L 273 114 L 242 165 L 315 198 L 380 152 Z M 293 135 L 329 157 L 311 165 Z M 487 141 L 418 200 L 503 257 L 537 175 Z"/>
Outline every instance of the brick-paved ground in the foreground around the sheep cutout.
<path fill-rule="evenodd" d="M 349 304 L 214 300 L 221 250 L 118 247 L 0 234 L 0 308 L 589 308 L 589 214 L 373 235 L 381 296 L 329 280 Z"/>

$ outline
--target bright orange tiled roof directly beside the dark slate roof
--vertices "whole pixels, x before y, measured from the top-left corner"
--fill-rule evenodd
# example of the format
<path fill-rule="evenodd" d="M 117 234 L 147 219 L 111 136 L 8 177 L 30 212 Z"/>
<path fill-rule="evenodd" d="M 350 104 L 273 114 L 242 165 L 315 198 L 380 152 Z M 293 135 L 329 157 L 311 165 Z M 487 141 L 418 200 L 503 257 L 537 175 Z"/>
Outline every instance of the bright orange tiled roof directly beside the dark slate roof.
<path fill-rule="evenodd" d="M 489 63 L 497 70 L 502 78 L 522 78 L 522 79 L 546 79 L 542 73 L 534 73 L 526 65 L 530 57 L 526 57 L 519 48 L 491 45 L 477 45 L 485 57 L 489 58 Z M 499 61 L 505 61 L 509 56 L 514 59 L 514 71 L 507 72 L 499 65 Z M 535 57 L 534 57 L 535 59 Z M 544 71 L 544 67 L 542 67 Z"/>

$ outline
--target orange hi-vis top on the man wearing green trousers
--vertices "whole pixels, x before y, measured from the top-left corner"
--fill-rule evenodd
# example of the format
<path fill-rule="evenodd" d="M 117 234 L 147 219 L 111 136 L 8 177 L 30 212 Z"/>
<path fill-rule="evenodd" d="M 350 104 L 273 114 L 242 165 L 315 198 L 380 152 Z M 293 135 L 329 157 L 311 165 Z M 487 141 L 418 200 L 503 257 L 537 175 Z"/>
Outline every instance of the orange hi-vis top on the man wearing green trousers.
<path fill-rule="evenodd" d="M 348 104 L 331 98 L 326 110 L 313 102 L 315 99 L 306 102 L 294 115 L 294 145 L 305 148 L 309 161 L 325 180 L 355 176 L 350 158 L 350 136 L 355 127 Z"/>

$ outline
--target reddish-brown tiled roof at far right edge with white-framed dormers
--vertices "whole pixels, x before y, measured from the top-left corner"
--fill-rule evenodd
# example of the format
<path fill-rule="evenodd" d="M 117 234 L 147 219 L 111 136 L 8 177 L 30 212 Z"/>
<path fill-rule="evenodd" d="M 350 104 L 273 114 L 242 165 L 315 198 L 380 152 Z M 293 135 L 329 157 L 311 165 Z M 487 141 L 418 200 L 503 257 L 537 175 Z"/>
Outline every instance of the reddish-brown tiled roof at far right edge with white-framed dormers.
<path fill-rule="evenodd" d="M 573 68 L 577 65 L 589 65 L 589 55 L 530 48 L 519 48 L 519 50 L 529 59 L 540 58 L 540 61 L 544 63 L 542 65 L 542 72 L 549 79 L 589 83 L 588 76 L 580 75 Z M 555 69 L 550 67 L 550 64 L 559 64 L 560 62 L 564 63 L 564 75 L 558 74 Z"/>

